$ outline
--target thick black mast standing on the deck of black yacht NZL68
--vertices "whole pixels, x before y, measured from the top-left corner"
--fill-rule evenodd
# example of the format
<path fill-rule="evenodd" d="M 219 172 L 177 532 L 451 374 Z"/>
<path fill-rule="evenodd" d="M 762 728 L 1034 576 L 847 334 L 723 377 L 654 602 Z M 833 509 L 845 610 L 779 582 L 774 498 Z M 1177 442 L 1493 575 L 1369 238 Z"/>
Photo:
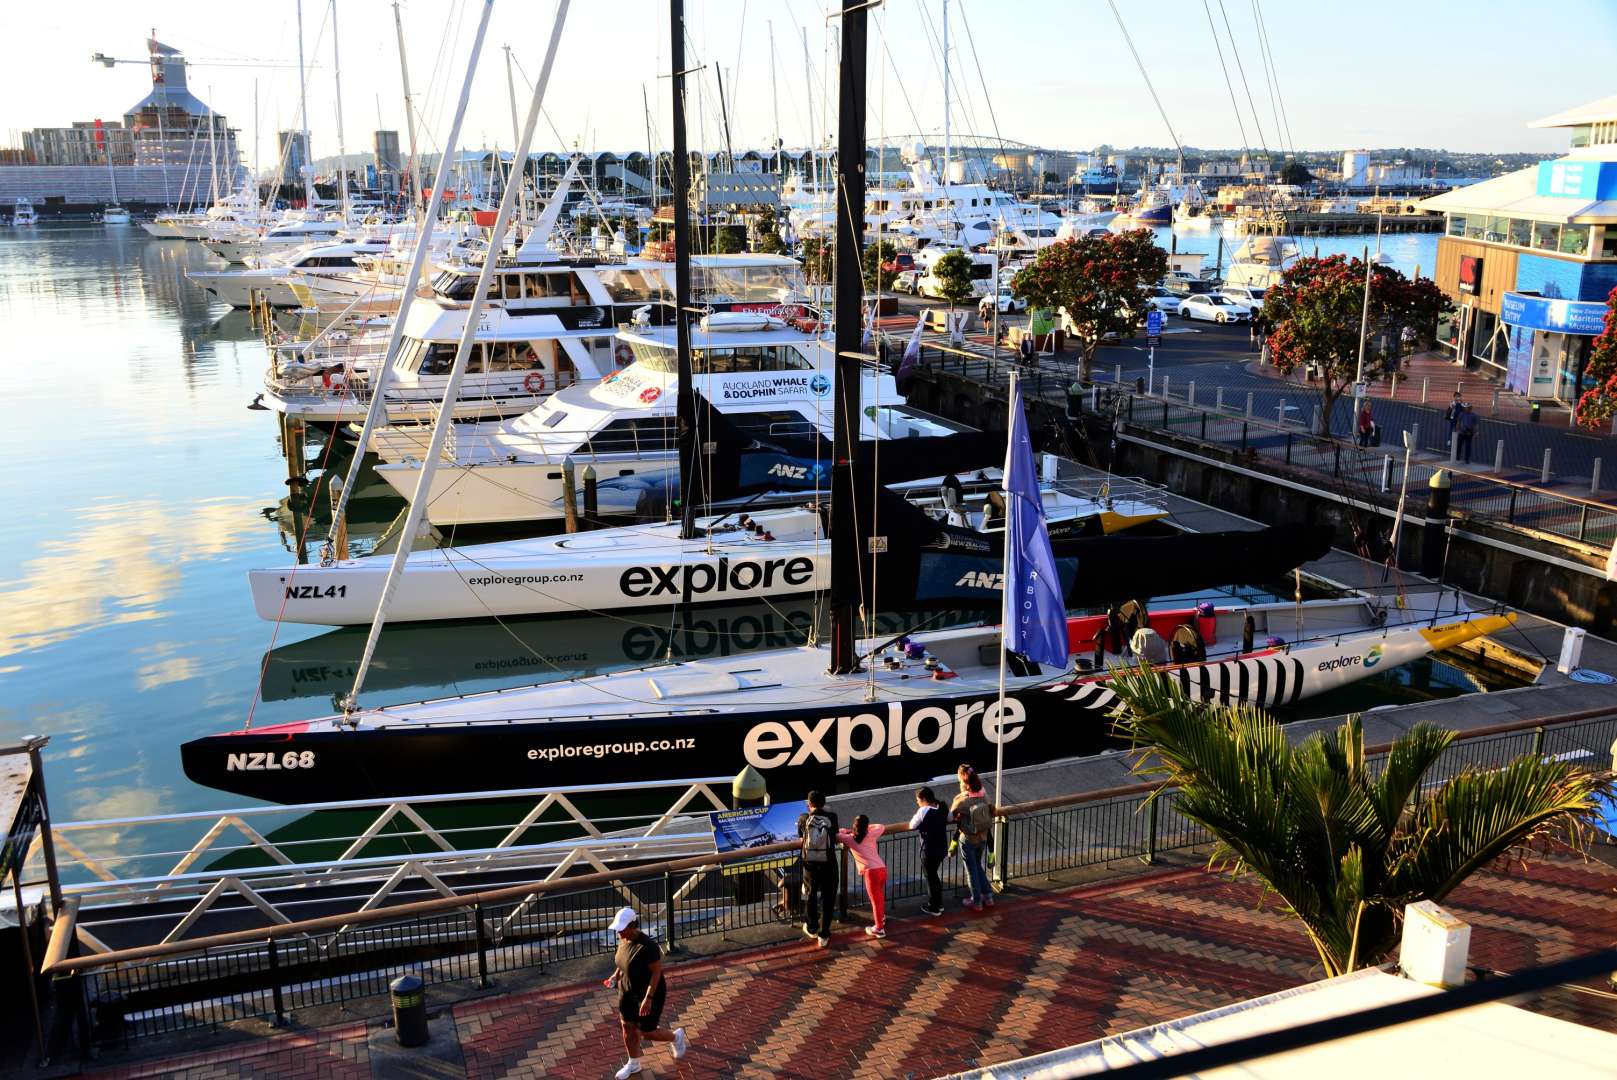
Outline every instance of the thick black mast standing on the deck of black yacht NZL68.
<path fill-rule="evenodd" d="M 863 375 L 865 276 L 865 24 L 868 5 L 842 0 L 842 65 L 836 133 L 836 385 L 831 396 L 831 666 L 830 674 L 859 671 L 854 619 L 859 611 L 859 530 L 854 479 Z"/>

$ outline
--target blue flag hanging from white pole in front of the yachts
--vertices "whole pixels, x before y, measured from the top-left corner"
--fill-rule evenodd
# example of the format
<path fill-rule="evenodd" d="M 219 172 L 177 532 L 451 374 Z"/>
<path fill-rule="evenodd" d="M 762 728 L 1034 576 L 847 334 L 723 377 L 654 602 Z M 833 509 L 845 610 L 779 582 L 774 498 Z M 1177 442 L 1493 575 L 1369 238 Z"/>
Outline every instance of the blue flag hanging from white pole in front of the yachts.
<path fill-rule="evenodd" d="M 1045 501 L 1033 469 L 1033 441 L 1022 412 L 1022 385 L 1011 398 L 1006 445 L 1006 648 L 1056 671 L 1067 668 L 1067 605 L 1045 529 Z"/>

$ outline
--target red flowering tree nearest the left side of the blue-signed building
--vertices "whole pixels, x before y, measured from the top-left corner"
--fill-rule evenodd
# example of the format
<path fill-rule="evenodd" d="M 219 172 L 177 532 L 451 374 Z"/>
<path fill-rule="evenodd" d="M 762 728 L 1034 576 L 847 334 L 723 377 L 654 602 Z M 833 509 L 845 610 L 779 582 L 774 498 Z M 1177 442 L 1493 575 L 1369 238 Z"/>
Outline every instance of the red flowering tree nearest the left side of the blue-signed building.
<path fill-rule="evenodd" d="M 1431 278 L 1410 280 L 1392 267 L 1376 265 L 1370 280 L 1370 328 L 1365 378 L 1376 378 L 1397 356 L 1404 330 L 1429 341 L 1449 297 Z M 1319 422 L 1329 433 L 1331 409 L 1358 372 L 1358 338 L 1365 314 L 1365 262 L 1347 255 L 1298 259 L 1263 297 L 1263 317 L 1273 325 L 1269 354 L 1282 372 L 1315 370 L 1324 407 Z"/>

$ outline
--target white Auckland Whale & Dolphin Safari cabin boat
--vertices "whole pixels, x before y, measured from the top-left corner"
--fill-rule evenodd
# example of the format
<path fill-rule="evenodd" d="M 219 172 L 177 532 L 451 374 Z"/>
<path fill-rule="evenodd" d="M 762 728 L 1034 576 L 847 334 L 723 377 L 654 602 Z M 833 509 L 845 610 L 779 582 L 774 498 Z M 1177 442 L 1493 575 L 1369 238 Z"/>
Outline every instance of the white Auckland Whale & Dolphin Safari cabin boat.
<path fill-rule="evenodd" d="M 702 396 L 744 433 L 828 435 L 830 344 L 766 317 L 754 322 L 758 328 L 723 319 L 710 315 L 705 327 L 690 333 L 692 370 Z M 427 521 L 440 527 L 559 521 L 566 514 L 558 500 L 568 459 L 581 475 L 585 467 L 595 469 L 608 500 L 603 513 L 632 513 L 642 495 L 661 496 L 661 488 L 678 483 L 674 328 L 623 330 L 616 348 L 632 362 L 598 385 L 563 390 L 511 420 L 459 425 L 445 451 L 453 464 L 433 472 Z M 959 430 L 909 409 L 893 375 L 865 369 L 863 378 L 863 438 Z M 424 430 L 382 428 L 367 449 L 382 458 L 377 475 L 411 498 L 425 446 Z"/>

